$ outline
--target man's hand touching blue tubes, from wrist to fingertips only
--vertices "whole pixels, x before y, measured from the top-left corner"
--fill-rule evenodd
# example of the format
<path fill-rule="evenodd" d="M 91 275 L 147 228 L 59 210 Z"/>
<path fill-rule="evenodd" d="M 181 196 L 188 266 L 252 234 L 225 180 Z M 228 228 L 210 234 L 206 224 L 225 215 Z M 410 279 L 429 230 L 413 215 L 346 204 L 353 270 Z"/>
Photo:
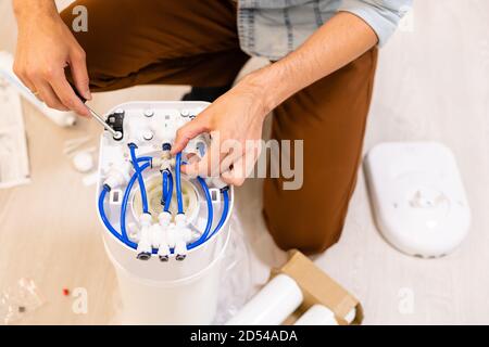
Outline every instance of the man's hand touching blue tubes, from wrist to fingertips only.
<path fill-rule="evenodd" d="M 263 120 L 268 113 L 260 83 L 248 76 L 180 128 L 172 152 L 183 151 L 189 140 L 209 132 L 212 142 L 208 153 L 181 170 L 190 176 L 221 176 L 228 184 L 241 185 L 260 154 Z"/>

